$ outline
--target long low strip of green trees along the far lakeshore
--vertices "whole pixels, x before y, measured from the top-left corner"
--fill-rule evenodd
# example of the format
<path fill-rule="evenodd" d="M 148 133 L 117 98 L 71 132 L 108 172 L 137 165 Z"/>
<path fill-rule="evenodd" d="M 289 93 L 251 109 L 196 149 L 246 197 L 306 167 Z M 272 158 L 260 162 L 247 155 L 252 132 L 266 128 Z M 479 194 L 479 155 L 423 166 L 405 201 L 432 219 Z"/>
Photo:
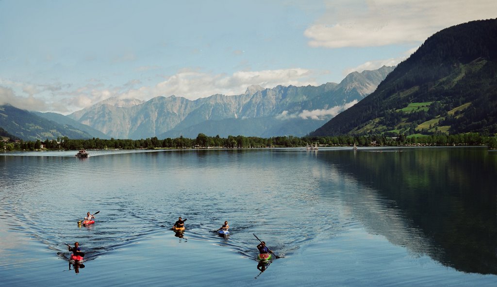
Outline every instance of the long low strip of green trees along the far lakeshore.
<path fill-rule="evenodd" d="M 195 139 L 157 137 L 131 140 L 131 139 L 69 139 L 62 137 L 46 139 L 45 141 L 0 141 L 0 151 L 36 151 L 36 150 L 80 150 L 80 149 L 209 149 L 209 148 L 278 148 L 278 147 L 306 147 L 315 145 L 319 147 L 350 146 L 359 147 L 409 147 L 409 146 L 487 146 L 497 149 L 497 136 L 482 136 L 479 133 L 465 133 L 455 135 L 434 134 L 422 136 L 387 137 L 384 135 L 367 136 L 277 136 L 271 138 L 228 136 L 221 138 L 219 135 L 210 137 L 198 134 Z"/>

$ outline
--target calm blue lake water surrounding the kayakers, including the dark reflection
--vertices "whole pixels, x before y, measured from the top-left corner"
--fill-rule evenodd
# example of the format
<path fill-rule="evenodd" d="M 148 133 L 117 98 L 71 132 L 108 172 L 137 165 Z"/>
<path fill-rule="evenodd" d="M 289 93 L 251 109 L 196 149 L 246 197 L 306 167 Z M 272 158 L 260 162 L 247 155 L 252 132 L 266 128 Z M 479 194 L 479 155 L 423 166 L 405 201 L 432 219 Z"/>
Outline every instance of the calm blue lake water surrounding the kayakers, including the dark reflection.
<path fill-rule="evenodd" d="M 497 285 L 486 148 L 89 153 L 0 154 L 0 286 Z"/>

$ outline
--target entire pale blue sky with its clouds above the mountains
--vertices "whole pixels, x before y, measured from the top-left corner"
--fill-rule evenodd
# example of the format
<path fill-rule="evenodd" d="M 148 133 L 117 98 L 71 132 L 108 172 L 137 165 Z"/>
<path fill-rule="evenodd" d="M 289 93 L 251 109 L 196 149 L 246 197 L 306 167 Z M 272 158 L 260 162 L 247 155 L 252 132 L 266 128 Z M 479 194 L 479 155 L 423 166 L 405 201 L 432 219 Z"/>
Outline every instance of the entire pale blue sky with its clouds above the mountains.
<path fill-rule="evenodd" d="M 108 97 L 339 83 L 495 0 L 0 0 L 0 104 L 69 114 Z"/>

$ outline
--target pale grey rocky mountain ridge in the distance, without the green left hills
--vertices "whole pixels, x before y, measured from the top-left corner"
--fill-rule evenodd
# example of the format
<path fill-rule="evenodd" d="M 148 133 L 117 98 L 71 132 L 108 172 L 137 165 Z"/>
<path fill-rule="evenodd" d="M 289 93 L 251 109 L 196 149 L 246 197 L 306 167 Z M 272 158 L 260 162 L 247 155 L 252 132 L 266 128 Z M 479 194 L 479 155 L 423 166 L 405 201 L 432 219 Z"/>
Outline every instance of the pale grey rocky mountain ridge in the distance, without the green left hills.
<path fill-rule="evenodd" d="M 125 102 L 109 98 L 74 112 L 69 117 L 110 137 L 140 139 L 165 134 L 186 136 L 183 130 L 188 130 L 188 137 L 196 137 L 198 133 L 215 136 L 223 134 L 224 130 L 237 130 L 240 135 L 245 136 L 278 136 L 281 135 L 277 134 L 280 131 L 287 134 L 291 130 L 285 127 L 290 121 L 277 117 L 292 114 L 290 125 L 295 130 L 293 135 L 302 136 L 320 127 L 323 120 L 329 120 L 332 115 L 325 114 L 314 122 L 304 122 L 313 120 L 303 117 L 296 119 L 296 114 L 304 110 L 331 109 L 359 101 L 393 69 L 394 67 L 382 67 L 375 71 L 354 72 L 340 84 L 327 83 L 318 87 L 277 86 L 271 89 L 250 86 L 241 95 L 217 94 L 193 101 L 179 96 L 157 96 L 141 103 L 140 100 L 130 99 Z M 265 120 L 254 121 L 254 127 L 257 128 L 248 128 L 252 124 L 251 120 L 257 118 Z M 207 122 L 213 124 L 203 124 Z M 230 124 L 239 128 L 233 129 Z M 216 129 L 216 126 L 219 128 Z M 210 128 L 209 131 L 203 131 L 195 127 Z M 266 131 L 274 134 L 268 135 Z"/>

